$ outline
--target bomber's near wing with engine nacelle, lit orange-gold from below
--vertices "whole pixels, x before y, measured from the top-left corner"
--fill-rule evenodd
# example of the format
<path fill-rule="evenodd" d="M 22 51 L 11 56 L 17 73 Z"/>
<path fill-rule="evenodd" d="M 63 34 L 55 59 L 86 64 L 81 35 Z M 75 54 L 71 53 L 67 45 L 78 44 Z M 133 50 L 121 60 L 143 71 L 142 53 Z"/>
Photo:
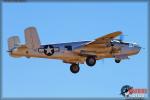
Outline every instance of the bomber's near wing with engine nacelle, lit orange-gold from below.
<path fill-rule="evenodd" d="M 112 52 L 111 40 L 115 37 L 121 35 L 122 32 L 117 31 L 105 36 L 99 37 L 94 41 L 88 42 L 86 44 L 80 45 L 74 49 L 74 52 L 78 55 L 97 55 L 99 57 L 105 57 L 106 54 Z M 118 52 L 119 49 L 113 50 L 113 52 Z M 100 58 L 101 59 L 101 58 Z"/>

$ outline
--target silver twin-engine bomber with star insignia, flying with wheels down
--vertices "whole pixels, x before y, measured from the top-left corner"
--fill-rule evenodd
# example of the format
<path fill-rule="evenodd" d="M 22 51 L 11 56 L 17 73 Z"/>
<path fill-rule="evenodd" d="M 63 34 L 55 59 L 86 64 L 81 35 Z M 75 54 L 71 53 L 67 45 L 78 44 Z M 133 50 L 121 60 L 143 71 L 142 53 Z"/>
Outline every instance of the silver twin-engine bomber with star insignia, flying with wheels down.
<path fill-rule="evenodd" d="M 35 27 L 29 27 L 24 32 L 25 44 L 20 44 L 18 36 L 12 36 L 8 39 L 10 56 L 59 59 L 64 63 L 71 64 L 70 71 L 72 73 L 78 73 L 79 64 L 84 64 L 84 62 L 88 66 L 94 66 L 97 60 L 114 58 L 116 63 L 120 63 L 121 60 L 128 59 L 128 56 L 138 54 L 141 49 L 136 43 L 115 39 L 122 35 L 120 31 L 107 34 L 93 41 L 46 45 L 41 45 Z"/>

